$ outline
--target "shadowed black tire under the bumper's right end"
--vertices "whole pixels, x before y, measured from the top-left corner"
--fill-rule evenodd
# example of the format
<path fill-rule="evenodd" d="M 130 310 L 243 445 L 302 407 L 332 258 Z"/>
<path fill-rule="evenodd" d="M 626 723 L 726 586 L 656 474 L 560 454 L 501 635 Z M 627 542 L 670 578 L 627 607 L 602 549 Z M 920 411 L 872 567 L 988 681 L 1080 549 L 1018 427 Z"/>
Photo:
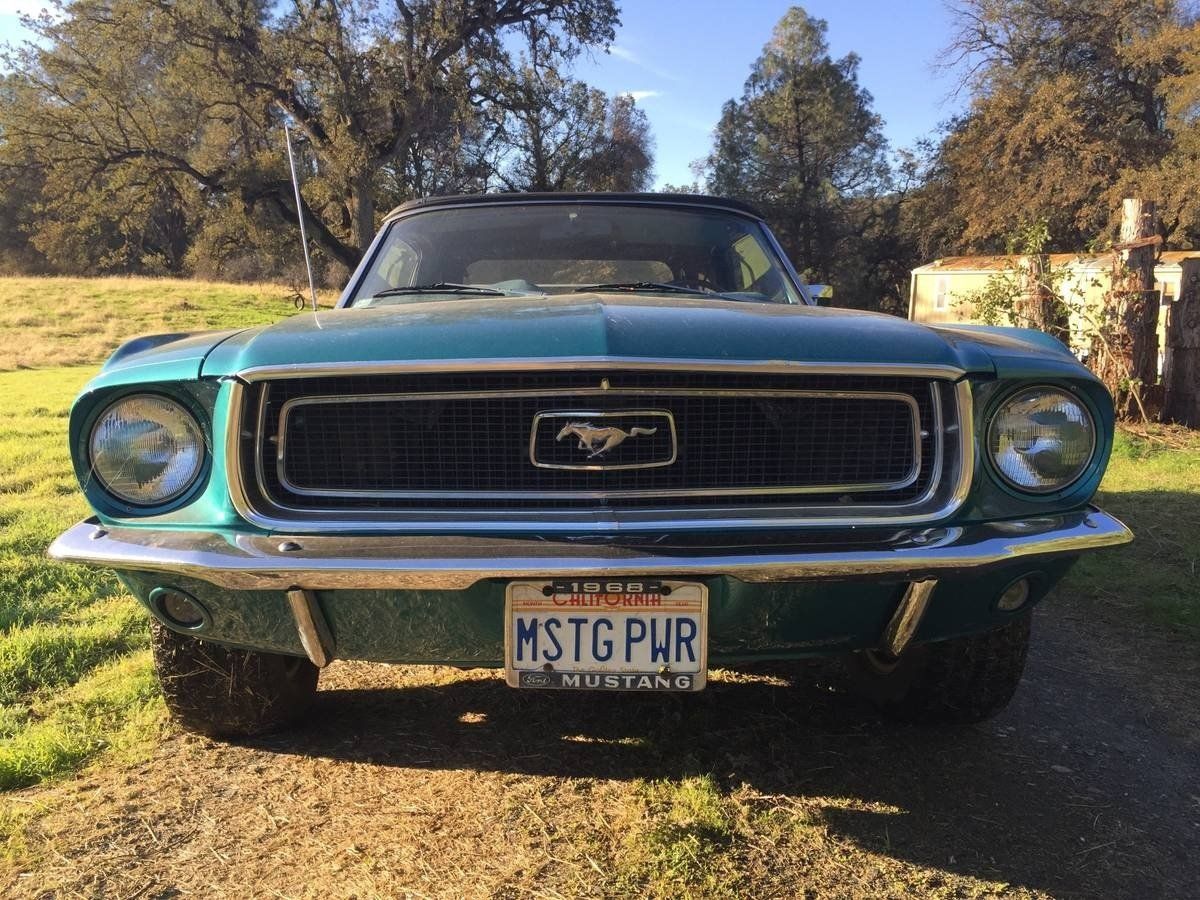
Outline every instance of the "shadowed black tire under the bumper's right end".
<path fill-rule="evenodd" d="M 918 644 L 896 659 L 874 650 L 851 659 L 851 680 L 898 721 L 966 725 L 1008 706 L 1025 672 L 1031 613 L 992 631 Z"/>

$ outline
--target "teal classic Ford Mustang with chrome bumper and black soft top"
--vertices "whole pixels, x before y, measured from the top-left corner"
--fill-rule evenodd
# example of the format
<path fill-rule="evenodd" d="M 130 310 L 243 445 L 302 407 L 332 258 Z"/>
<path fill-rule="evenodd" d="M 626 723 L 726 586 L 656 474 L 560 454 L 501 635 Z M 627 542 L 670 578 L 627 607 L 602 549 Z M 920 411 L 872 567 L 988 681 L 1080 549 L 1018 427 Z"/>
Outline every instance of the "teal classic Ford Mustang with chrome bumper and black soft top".
<path fill-rule="evenodd" d="M 839 656 L 906 719 L 1009 700 L 1031 608 L 1129 530 L 1055 340 L 814 306 L 762 218 L 666 194 L 392 212 L 336 310 L 140 337 L 71 414 L 52 556 L 154 617 L 168 707 L 247 734 L 334 659 L 694 691 Z"/>

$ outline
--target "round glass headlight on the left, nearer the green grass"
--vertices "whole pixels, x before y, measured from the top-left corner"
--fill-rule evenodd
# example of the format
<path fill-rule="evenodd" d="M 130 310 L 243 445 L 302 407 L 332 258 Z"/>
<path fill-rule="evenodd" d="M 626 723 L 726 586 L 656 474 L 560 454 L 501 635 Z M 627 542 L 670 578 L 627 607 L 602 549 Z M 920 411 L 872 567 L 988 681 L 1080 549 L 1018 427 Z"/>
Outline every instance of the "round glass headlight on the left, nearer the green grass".
<path fill-rule="evenodd" d="M 204 464 L 204 436 L 184 407 L 140 394 L 106 409 L 91 428 L 91 470 L 120 500 L 151 506 L 182 494 Z"/>

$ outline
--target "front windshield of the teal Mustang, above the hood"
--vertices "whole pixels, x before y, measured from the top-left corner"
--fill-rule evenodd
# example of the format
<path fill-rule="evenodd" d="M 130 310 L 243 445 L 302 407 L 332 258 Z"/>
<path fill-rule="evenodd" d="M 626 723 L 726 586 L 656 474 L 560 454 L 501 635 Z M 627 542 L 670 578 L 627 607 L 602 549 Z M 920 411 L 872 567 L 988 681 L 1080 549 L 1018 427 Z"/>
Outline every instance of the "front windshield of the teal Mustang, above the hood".
<path fill-rule="evenodd" d="M 762 226 L 712 209 L 503 203 L 394 222 L 349 305 L 602 289 L 803 302 Z"/>

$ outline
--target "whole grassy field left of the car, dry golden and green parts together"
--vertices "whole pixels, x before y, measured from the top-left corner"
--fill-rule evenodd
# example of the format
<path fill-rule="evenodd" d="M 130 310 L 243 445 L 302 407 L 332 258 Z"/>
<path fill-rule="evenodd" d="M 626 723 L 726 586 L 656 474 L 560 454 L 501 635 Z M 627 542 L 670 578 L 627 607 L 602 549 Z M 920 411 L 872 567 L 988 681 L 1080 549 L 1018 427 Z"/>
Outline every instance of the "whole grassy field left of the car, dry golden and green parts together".
<path fill-rule="evenodd" d="M 76 394 L 130 337 L 294 312 L 272 284 L 0 278 L 0 790 L 144 749 L 163 724 L 140 608 L 112 575 L 44 557 L 88 514 L 66 448 Z"/>

